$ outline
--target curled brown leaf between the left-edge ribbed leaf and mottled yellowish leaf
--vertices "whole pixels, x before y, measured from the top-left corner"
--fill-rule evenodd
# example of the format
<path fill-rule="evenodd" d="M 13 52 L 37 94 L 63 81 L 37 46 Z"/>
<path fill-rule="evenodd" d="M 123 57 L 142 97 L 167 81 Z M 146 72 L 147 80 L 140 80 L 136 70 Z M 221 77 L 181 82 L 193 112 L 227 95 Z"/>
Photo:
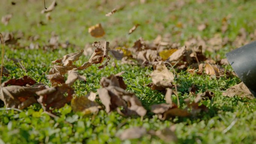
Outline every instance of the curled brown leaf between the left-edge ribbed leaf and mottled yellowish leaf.
<path fill-rule="evenodd" d="M 67 96 L 65 96 L 67 93 Z M 39 104 L 42 105 L 45 111 L 49 111 L 49 108 L 61 108 L 67 102 L 70 102 L 74 90 L 65 83 L 60 86 L 53 86 L 51 88 L 44 89 L 36 92 L 40 97 L 37 99 Z"/>

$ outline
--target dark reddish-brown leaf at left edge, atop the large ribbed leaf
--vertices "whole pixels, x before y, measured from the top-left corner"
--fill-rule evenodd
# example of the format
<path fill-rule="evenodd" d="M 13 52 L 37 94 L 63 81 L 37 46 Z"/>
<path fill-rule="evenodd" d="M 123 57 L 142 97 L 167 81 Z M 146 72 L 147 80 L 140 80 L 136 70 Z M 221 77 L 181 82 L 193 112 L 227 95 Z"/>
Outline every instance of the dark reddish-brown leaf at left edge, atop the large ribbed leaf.
<path fill-rule="evenodd" d="M 19 79 L 9 79 L 2 83 L 1 86 L 15 85 L 15 86 L 26 86 L 26 85 L 34 85 L 36 83 L 31 77 L 24 76 Z"/>

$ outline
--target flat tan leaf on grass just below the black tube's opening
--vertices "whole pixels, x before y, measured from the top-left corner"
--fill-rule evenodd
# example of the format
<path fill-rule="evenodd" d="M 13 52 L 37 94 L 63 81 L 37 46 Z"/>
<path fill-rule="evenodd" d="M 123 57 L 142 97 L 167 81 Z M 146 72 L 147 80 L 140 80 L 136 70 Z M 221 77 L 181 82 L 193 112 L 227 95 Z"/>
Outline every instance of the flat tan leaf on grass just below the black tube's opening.
<path fill-rule="evenodd" d="M 247 88 L 247 86 L 243 82 L 237 85 L 234 85 L 231 88 L 228 88 L 226 91 L 222 93 L 222 95 L 228 96 L 228 97 L 234 97 L 235 95 L 237 95 L 242 98 L 244 97 L 250 98 L 250 99 L 254 98 L 250 90 Z"/>

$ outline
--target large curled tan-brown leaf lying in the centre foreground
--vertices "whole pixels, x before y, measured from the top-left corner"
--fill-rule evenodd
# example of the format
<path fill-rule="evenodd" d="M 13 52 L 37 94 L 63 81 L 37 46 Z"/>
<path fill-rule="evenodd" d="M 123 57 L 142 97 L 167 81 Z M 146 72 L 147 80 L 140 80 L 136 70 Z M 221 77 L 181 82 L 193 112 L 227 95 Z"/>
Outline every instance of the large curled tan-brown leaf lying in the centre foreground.
<path fill-rule="evenodd" d="M 113 110 L 118 110 L 118 113 L 125 116 L 139 115 L 144 116 L 146 110 L 131 92 L 125 92 L 124 89 L 117 86 L 108 86 L 107 88 L 98 89 L 99 98 L 105 106 L 107 113 Z M 119 107 L 124 110 L 119 111 Z"/>

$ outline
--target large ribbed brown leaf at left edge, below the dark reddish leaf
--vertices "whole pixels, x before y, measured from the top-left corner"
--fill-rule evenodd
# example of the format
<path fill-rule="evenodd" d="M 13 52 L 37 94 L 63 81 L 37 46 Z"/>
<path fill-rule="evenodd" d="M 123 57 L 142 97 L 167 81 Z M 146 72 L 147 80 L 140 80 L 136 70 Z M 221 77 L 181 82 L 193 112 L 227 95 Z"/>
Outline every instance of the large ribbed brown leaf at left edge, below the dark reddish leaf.
<path fill-rule="evenodd" d="M 1 87 L 0 99 L 6 107 L 23 109 L 36 102 L 34 97 L 37 91 L 45 89 L 45 86 L 25 87 L 6 86 Z"/>

